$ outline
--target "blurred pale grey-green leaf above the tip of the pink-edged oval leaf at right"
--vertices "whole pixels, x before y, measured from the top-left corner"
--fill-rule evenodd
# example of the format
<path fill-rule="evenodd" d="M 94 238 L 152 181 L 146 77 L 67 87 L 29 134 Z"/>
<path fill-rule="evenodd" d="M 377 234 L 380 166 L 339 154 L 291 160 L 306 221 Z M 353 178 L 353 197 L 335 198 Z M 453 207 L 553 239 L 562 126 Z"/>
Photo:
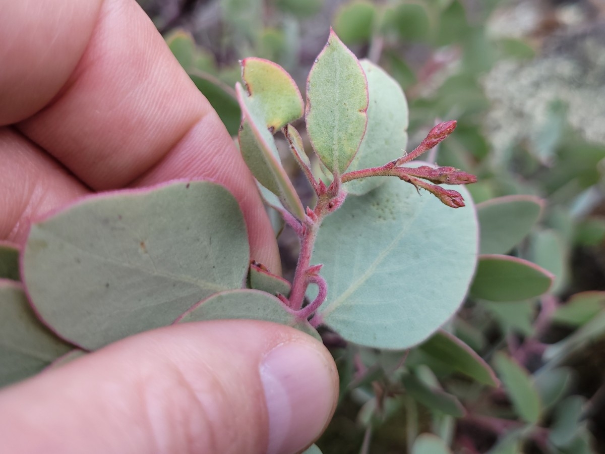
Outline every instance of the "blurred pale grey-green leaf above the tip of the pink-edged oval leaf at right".
<path fill-rule="evenodd" d="M 531 235 L 531 260 L 554 275 L 550 292 L 560 293 L 567 284 L 567 248 L 557 231 L 548 229 Z"/>

